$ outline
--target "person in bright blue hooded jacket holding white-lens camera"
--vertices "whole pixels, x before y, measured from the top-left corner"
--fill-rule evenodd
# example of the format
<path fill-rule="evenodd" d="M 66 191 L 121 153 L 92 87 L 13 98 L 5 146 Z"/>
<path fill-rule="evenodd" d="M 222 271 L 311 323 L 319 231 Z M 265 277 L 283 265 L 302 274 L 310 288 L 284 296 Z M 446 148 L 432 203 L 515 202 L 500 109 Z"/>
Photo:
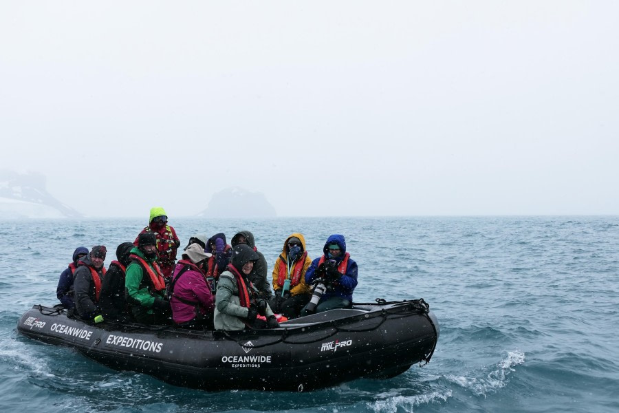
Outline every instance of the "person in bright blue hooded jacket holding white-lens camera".
<path fill-rule="evenodd" d="M 357 263 L 351 260 L 346 252 L 344 235 L 330 235 L 323 247 L 323 256 L 312 261 L 312 265 L 305 273 L 305 282 L 326 287 L 318 301 L 318 306 L 310 310 L 307 304 L 301 310 L 301 315 L 312 312 L 333 310 L 334 308 L 349 308 L 352 305 L 352 295 L 357 286 Z"/>

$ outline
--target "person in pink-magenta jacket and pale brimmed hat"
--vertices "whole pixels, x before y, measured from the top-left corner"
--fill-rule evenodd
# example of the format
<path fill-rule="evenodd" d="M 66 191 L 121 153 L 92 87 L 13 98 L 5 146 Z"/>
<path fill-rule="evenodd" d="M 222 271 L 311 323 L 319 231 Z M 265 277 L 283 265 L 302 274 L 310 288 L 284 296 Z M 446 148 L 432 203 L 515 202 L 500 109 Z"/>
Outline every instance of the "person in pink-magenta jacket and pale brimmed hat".
<path fill-rule="evenodd" d="M 210 256 L 199 244 L 191 244 L 176 264 L 169 290 L 172 319 L 177 326 L 213 328 L 215 305 L 204 273 Z"/>

